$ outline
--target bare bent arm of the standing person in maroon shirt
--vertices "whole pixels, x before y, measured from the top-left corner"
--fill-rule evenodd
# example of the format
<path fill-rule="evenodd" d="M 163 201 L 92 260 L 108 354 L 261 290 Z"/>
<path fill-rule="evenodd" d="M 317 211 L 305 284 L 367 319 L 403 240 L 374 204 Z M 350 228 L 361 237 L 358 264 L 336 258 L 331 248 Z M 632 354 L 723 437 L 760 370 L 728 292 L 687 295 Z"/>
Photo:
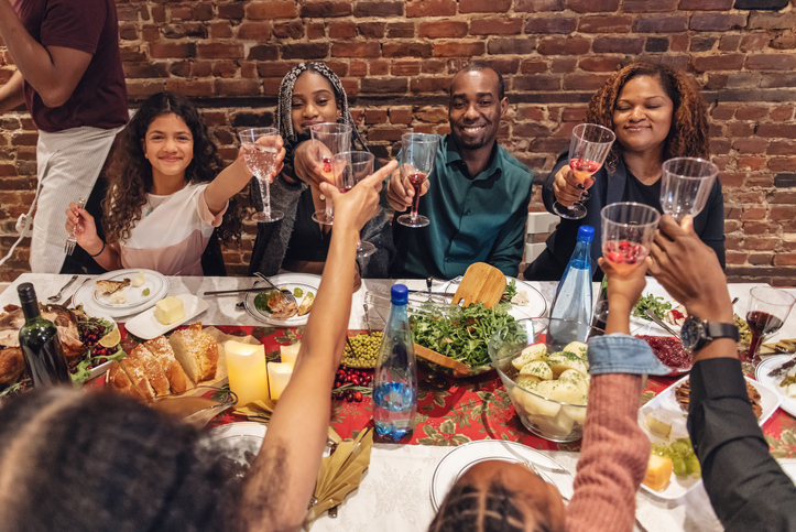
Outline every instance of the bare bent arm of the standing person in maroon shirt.
<path fill-rule="evenodd" d="M 42 46 L 31 36 L 8 0 L 0 0 L 0 35 L 17 68 L 47 107 L 72 97 L 91 54 L 64 46 Z"/>

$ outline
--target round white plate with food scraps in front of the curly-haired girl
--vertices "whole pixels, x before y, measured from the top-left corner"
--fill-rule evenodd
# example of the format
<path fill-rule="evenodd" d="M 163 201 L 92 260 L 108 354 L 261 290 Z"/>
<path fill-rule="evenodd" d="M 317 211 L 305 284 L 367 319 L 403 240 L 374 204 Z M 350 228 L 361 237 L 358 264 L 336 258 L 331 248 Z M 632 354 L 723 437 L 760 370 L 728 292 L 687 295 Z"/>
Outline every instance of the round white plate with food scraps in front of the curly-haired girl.
<path fill-rule="evenodd" d="M 140 271 L 144 272 L 144 284 L 143 286 L 127 286 L 124 289 L 128 298 L 127 303 L 112 304 L 110 303 L 109 296 L 96 295 L 97 281 L 117 281 L 124 278 L 132 281 Z M 145 289 L 150 289 L 149 295 L 142 295 Z M 167 294 L 168 279 L 166 279 L 162 273 L 154 270 L 141 269 L 115 270 L 94 279 L 89 279 L 85 282 L 79 289 L 77 289 L 77 292 L 75 292 L 74 304 L 83 304 L 84 310 L 91 316 L 108 315 L 112 317 L 121 317 L 143 312 L 146 308 L 154 306 L 155 303 L 161 301 Z"/>

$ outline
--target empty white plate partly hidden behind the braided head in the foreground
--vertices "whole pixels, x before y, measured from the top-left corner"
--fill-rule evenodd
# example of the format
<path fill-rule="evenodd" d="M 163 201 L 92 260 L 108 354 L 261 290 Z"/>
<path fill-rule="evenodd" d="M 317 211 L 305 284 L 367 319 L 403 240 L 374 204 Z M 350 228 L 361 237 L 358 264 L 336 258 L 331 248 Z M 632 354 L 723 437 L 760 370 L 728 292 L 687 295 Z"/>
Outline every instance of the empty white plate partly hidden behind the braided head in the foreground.
<path fill-rule="evenodd" d="M 573 476 L 553 458 L 516 442 L 480 439 L 456 447 L 439 460 L 432 477 L 432 504 L 439 510 L 454 482 L 476 464 L 484 460 L 531 462 L 541 476 L 566 498 L 573 497 Z"/>

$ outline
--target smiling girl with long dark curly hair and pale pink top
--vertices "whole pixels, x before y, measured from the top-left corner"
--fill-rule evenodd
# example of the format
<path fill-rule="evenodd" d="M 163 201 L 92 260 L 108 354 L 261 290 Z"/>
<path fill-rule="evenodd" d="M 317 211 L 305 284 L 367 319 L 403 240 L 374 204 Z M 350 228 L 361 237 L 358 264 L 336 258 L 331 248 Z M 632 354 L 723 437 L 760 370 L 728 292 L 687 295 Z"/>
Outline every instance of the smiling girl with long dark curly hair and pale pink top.
<path fill-rule="evenodd" d="M 251 178 L 240 156 L 220 170 L 221 159 L 193 104 L 159 93 L 135 112 L 113 153 L 102 202 L 107 241 L 97 236 L 91 215 L 74 203 L 66 210 L 66 230 L 77 225 L 78 246 L 106 270 L 218 274 L 223 261 L 214 231 L 226 243 L 240 242 L 241 206 L 235 195 Z M 205 271 L 209 261 L 203 269 L 203 253 L 211 237 L 217 260 L 214 271 Z"/>

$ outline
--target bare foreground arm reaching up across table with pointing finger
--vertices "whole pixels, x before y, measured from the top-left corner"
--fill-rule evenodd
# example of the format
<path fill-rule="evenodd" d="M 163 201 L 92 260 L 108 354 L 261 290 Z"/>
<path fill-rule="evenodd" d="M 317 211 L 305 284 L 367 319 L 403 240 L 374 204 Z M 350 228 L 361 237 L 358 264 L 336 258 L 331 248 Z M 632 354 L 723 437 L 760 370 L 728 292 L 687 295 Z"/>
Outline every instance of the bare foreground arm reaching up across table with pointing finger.
<path fill-rule="evenodd" d="M 331 386 L 346 344 L 357 239 L 377 211 L 377 185 L 388 164 L 348 194 L 325 184 L 335 202 L 335 230 L 293 377 L 243 486 L 240 519 L 249 531 L 299 530 L 326 445 Z"/>

